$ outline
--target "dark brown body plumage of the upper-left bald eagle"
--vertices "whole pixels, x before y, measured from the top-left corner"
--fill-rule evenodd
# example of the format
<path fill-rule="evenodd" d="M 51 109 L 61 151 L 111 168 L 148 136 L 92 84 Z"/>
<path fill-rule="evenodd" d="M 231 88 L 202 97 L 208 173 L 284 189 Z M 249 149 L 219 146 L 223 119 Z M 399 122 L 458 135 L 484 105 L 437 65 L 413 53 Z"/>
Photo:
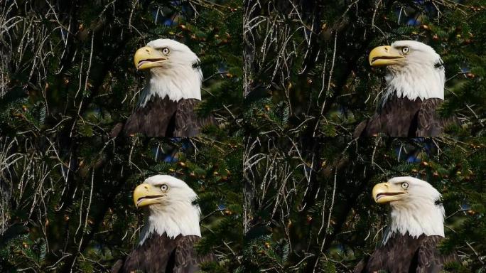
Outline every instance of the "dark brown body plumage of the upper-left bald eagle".
<path fill-rule="evenodd" d="M 147 137 L 195 137 L 201 127 L 214 124 L 212 117 L 202 118 L 194 112 L 197 99 L 178 102 L 167 96 L 153 97 L 144 107 L 138 107 L 124 125 L 124 134 L 145 134 Z"/>

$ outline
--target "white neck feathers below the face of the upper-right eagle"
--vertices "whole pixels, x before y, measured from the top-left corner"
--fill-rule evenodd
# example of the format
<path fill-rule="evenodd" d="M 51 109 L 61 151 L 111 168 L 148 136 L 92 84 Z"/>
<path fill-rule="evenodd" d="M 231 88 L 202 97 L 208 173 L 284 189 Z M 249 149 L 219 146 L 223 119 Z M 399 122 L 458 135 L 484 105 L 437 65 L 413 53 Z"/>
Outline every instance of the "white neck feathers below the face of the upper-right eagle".
<path fill-rule="evenodd" d="M 389 67 L 385 80 L 387 91 L 384 102 L 394 94 L 396 97 L 409 100 L 444 99 L 446 74 L 442 65 L 437 67 L 417 62 L 400 67 Z"/>

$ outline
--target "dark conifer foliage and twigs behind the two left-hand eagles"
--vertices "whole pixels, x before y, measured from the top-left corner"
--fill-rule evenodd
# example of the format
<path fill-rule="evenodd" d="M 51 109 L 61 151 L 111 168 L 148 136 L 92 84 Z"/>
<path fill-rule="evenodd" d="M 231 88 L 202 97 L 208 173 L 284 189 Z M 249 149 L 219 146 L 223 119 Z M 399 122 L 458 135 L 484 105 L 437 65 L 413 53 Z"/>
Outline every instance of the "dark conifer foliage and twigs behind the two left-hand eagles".
<path fill-rule="evenodd" d="M 205 80 L 193 139 L 109 137 L 133 111 L 137 48 L 188 45 Z M 131 191 L 164 173 L 200 196 L 202 252 L 239 267 L 242 234 L 239 1 L 0 2 L 0 272 L 107 272 L 136 245 Z"/>

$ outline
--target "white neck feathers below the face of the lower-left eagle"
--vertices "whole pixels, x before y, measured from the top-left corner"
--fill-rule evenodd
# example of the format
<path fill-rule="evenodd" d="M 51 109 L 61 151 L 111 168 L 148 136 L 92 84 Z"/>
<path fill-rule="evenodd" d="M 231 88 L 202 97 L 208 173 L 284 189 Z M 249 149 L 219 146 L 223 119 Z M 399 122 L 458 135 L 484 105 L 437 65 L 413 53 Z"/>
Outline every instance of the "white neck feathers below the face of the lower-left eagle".
<path fill-rule="evenodd" d="M 175 238 L 178 235 L 195 235 L 201 237 L 199 227 L 200 208 L 188 202 L 171 203 L 165 206 L 151 206 L 146 212 L 145 225 L 141 230 L 139 245 L 154 232 Z"/>

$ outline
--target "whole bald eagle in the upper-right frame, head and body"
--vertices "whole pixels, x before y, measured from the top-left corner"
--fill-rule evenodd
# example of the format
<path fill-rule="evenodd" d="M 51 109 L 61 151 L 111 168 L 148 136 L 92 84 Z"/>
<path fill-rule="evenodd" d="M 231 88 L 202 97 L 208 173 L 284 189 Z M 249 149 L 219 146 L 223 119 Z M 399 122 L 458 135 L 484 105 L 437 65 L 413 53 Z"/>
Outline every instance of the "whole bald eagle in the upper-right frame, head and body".
<path fill-rule="evenodd" d="M 387 66 L 387 89 L 377 112 L 360 123 L 355 137 L 379 133 L 389 137 L 437 137 L 458 123 L 436 112 L 444 100 L 445 71 L 441 56 L 417 41 L 396 41 L 374 48 L 369 64 Z"/>

